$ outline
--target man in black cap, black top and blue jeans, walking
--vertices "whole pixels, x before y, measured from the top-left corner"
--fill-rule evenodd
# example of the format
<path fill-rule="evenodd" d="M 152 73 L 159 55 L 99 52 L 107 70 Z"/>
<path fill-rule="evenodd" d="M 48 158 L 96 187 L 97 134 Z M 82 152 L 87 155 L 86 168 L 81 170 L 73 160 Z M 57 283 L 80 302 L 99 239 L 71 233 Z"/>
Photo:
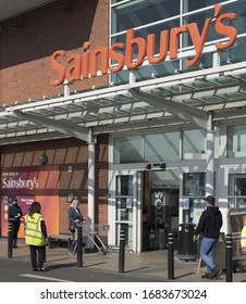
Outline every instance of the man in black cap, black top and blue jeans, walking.
<path fill-rule="evenodd" d="M 199 218 L 194 236 L 195 241 L 198 235 L 202 233 L 200 257 L 207 266 L 206 274 L 201 276 L 204 279 L 214 279 L 220 271 L 220 269 L 216 267 L 213 252 L 219 241 L 223 220 L 219 207 L 214 206 L 214 202 L 216 200 L 212 195 L 208 195 L 205 199 L 207 208 L 202 212 Z"/>

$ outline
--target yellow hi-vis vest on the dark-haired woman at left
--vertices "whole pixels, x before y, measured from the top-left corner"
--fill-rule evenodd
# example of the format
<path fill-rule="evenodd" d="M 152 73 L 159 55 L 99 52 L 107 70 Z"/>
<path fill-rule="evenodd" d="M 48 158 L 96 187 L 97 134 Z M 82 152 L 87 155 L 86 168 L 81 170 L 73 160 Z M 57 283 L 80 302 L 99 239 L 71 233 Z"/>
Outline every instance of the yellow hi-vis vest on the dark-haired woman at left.
<path fill-rule="evenodd" d="M 46 245 L 45 236 L 41 232 L 41 220 L 45 221 L 41 214 L 35 213 L 32 216 L 26 214 L 25 218 L 25 241 L 27 245 Z"/>

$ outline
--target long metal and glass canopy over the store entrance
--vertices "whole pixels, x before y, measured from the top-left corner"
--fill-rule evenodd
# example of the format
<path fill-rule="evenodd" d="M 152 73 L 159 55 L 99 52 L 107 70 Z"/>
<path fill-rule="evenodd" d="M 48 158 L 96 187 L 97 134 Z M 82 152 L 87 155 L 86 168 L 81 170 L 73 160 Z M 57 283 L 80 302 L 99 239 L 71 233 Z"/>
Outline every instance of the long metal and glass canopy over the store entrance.
<path fill-rule="evenodd" d="M 0 144 L 153 128 L 211 128 L 246 115 L 246 63 L 28 100 L 0 109 Z"/>

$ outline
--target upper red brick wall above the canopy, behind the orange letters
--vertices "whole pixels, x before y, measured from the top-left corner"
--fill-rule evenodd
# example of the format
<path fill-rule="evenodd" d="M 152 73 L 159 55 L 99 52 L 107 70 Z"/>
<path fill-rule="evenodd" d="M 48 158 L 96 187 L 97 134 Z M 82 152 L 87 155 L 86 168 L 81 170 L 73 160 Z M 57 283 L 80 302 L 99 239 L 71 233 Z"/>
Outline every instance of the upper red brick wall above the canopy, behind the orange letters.
<path fill-rule="evenodd" d="M 109 1 L 71 0 L 72 10 L 61 10 L 60 5 L 66 2 L 58 0 L 1 24 L 0 106 L 63 92 L 62 86 L 49 84 L 50 79 L 57 79 L 49 63 L 54 51 L 82 53 L 85 41 L 91 48 L 108 47 Z M 107 84 L 108 76 L 96 77 L 75 83 L 71 90 Z"/>

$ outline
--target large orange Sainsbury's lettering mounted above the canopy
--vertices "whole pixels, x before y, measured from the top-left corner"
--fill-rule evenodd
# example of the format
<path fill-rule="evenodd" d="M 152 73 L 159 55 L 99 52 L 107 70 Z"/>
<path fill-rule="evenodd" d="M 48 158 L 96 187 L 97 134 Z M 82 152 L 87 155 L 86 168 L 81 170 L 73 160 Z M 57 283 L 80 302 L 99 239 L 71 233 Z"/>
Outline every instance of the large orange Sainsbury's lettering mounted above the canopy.
<path fill-rule="evenodd" d="M 56 51 L 50 59 L 51 68 L 57 72 L 57 79 L 51 79 L 52 86 L 59 86 L 66 79 L 69 83 L 75 80 L 96 77 L 98 71 L 102 75 L 116 73 L 124 67 L 135 69 L 139 67 L 145 60 L 150 64 L 163 62 L 168 54 L 170 60 L 176 60 L 179 55 L 180 37 L 182 34 L 188 34 L 195 49 L 195 55 L 186 60 L 186 66 L 190 67 L 197 64 L 202 54 L 202 50 L 208 37 L 209 30 L 214 21 L 214 30 L 223 38 L 227 38 L 225 42 L 219 40 L 214 43 L 217 50 L 225 50 L 231 48 L 237 36 L 237 30 L 226 25 L 225 21 L 236 20 L 235 13 L 221 14 L 221 4 L 214 4 L 214 13 L 212 18 L 207 18 L 201 33 L 196 23 L 189 23 L 180 27 L 162 30 L 160 33 L 159 54 L 156 56 L 155 45 L 156 34 L 149 34 L 146 39 L 135 37 L 134 29 L 126 30 L 126 39 L 124 42 L 116 42 L 111 48 L 100 47 L 90 50 L 90 42 L 86 41 L 83 45 L 83 52 L 67 55 L 64 50 Z M 134 58 L 134 48 L 137 47 L 137 53 Z M 115 64 L 110 65 L 112 60 Z M 65 61 L 64 66 L 62 61 Z M 100 63 L 100 64 L 99 64 Z"/>

